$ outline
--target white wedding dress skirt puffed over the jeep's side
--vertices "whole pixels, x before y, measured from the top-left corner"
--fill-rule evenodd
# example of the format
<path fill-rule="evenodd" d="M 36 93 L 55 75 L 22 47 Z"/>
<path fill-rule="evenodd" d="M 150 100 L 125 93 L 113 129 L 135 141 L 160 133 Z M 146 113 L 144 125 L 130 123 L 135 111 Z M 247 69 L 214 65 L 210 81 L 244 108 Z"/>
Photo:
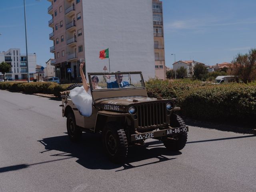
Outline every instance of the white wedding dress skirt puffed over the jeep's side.
<path fill-rule="evenodd" d="M 70 90 L 69 96 L 83 116 L 92 114 L 92 93 L 91 88 L 86 92 L 84 87 L 75 87 Z"/>

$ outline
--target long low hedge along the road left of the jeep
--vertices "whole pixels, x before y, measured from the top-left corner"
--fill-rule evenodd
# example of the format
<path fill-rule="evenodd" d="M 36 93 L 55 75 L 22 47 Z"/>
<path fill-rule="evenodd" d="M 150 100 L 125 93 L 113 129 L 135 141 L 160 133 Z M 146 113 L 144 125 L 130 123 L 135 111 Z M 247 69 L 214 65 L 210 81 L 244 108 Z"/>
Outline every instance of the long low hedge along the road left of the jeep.
<path fill-rule="evenodd" d="M 54 94 L 60 97 L 60 92 L 65 91 L 70 84 L 59 85 L 54 82 L 1 82 L 0 89 L 22 91 L 26 93 Z"/>

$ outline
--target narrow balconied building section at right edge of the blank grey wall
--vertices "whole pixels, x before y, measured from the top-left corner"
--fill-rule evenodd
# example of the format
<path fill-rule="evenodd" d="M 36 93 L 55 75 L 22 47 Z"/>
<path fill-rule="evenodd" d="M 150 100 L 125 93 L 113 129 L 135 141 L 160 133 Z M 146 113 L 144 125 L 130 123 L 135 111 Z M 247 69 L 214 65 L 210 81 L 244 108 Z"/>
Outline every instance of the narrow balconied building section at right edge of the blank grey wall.
<path fill-rule="evenodd" d="M 164 24 L 162 2 L 152 0 L 153 25 L 154 25 L 154 53 L 156 77 L 166 79 L 166 68 L 164 59 Z"/>

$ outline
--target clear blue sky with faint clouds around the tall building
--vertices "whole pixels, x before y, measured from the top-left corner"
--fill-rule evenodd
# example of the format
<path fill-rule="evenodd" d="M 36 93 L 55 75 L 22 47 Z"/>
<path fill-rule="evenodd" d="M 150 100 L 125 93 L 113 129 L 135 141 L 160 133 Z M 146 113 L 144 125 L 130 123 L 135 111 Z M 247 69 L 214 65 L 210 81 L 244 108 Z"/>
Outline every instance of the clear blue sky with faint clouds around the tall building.
<path fill-rule="evenodd" d="M 208 65 L 230 62 L 238 53 L 256 48 L 256 0 L 162 0 L 166 66 L 177 60 Z M 28 53 L 37 64 L 53 57 L 47 0 L 26 0 Z M 26 52 L 23 0 L 0 2 L 0 51 Z"/>

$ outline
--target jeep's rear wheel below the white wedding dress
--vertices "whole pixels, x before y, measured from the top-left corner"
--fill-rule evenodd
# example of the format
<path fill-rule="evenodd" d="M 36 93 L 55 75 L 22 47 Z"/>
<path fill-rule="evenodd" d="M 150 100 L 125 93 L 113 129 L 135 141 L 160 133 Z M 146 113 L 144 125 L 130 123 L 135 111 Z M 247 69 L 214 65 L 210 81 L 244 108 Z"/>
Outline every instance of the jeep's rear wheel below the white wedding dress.
<path fill-rule="evenodd" d="M 76 119 L 72 112 L 67 115 L 67 131 L 72 142 L 78 142 L 82 136 L 82 131 L 76 126 Z"/>

